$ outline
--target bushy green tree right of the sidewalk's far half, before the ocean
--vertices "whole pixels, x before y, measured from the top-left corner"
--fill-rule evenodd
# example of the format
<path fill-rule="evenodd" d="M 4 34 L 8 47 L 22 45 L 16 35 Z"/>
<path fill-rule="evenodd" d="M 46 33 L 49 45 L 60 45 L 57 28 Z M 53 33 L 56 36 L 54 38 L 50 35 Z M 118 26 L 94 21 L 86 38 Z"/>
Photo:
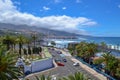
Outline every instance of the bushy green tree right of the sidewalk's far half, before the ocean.
<path fill-rule="evenodd" d="M 97 45 L 95 43 L 81 42 L 76 46 L 77 56 L 83 58 L 90 63 L 90 58 L 97 52 Z"/>

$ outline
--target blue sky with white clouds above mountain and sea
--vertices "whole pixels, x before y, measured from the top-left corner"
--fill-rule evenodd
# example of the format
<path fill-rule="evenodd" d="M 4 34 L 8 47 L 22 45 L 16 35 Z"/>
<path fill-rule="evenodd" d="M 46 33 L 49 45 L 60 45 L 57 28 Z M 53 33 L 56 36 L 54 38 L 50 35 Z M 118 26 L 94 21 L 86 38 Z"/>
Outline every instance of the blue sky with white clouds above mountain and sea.
<path fill-rule="evenodd" d="M 120 0 L 0 0 L 0 22 L 120 37 Z"/>

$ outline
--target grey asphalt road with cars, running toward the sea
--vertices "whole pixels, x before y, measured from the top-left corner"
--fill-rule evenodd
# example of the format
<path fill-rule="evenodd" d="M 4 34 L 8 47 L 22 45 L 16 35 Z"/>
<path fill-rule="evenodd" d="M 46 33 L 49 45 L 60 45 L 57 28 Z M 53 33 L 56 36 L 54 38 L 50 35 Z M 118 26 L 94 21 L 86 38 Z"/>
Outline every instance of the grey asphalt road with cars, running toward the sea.
<path fill-rule="evenodd" d="M 65 66 L 58 66 L 58 67 L 56 67 L 54 69 L 51 69 L 49 71 L 41 72 L 40 74 L 50 75 L 50 76 L 54 76 L 54 77 L 57 77 L 57 78 L 61 78 L 61 77 L 65 77 L 65 76 L 68 76 L 68 75 L 72 75 L 75 72 L 81 72 L 85 76 L 87 76 L 88 78 L 90 78 L 92 80 L 99 80 L 97 77 L 92 75 L 90 72 L 84 70 L 81 66 L 73 66 L 74 62 L 71 60 L 71 58 L 69 56 L 61 57 L 60 54 L 58 54 L 58 51 L 56 51 L 56 50 L 49 49 L 49 52 L 52 55 L 54 55 L 53 59 L 61 59 L 61 61 L 62 61 L 62 58 L 65 58 L 65 59 L 67 59 L 67 62 L 62 61 L 62 63 Z M 33 80 L 34 77 L 30 77 L 29 79 Z"/>

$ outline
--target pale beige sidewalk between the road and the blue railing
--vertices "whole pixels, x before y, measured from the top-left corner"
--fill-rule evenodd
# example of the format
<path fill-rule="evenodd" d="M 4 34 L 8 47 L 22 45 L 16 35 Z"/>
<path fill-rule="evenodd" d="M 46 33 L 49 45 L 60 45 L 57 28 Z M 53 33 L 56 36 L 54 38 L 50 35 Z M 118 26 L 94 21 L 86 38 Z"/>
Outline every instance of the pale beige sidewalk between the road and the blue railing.
<path fill-rule="evenodd" d="M 61 51 L 62 51 L 62 53 L 63 53 L 64 55 L 69 56 L 73 62 L 78 62 L 83 69 L 85 69 L 86 71 L 90 72 L 92 75 L 96 76 L 98 79 L 100 79 L 100 80 L 107 80 L 107 78 L 106 78 L 104 75 L 96 72 L 94 69 L 88 67 L 87 65 L 83 64 L 83 63 L 80 62 L 79 60 L 75 59 L 74 57 L 72 57 L 72 56 L 70 55 L 70 53 L 69 53 L 69 55 L 68 55 L 68 53 L 66 53 L 65 51 L 63 51 L 63 50 L 61 50 Z"/>

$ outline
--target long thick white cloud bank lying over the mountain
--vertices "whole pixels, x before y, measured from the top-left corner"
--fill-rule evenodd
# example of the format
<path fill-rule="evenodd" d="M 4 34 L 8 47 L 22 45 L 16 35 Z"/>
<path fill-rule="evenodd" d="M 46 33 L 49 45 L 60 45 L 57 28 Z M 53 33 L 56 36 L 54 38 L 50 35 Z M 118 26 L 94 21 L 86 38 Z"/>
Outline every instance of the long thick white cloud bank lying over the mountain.
<path fill-rule="evenodd" d="M 19 12 L 11 0 L 1 0 L 0 4 L 0 22 L 3 23 L 26 24 L 78 34 L 86 34 L 86 31 L 82 29 L 84 26 L 97 24 L 95 21 L 85 17 L 70 17 L 66 15 L 36 17 L 29 13 Z"/>

